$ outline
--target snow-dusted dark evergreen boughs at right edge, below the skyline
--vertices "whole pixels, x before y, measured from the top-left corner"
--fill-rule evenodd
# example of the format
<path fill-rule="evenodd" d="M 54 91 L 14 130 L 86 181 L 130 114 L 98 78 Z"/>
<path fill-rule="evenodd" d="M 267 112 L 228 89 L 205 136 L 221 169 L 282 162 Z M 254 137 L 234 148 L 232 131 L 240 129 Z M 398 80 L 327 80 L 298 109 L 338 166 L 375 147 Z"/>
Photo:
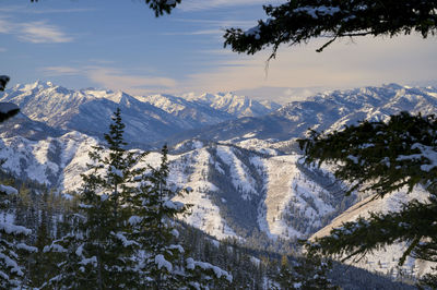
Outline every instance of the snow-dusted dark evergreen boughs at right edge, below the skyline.
<path fill-rule="evenodd" d="M 376 249 L 404 242 L 399 264 L 408 256 L 437 262 L 437 120 L 434 116 L 411 116 L 402 112 L 388 122 L 364 121 L 340 132 L 319 134 L 302 140 L 306 162 L 336 166 L 336 178 L 349 181 L 351 191 L 373 191 L 374 198 L 383 197 L 402 188 L 428 191 L 426 202 L 404 204 L 400 212 L 358 218 L 332 229 L 316 239 L 323 254 L 341 254 L 345 259 L 361 257 Z M 426 276 L 434 283 L 436 274 Z"/>

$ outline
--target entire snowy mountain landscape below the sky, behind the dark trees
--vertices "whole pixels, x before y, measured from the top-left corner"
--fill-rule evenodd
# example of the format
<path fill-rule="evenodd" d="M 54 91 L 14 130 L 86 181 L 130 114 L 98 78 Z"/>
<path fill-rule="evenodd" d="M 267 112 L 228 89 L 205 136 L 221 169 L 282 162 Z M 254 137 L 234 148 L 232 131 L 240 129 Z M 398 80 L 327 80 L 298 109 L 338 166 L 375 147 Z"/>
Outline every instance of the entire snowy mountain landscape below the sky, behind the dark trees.
<path fill-rule="evenodd" d="M 347 184 L 335 180 L 329 168 L 303 166 L 295 140 L 305 136 L 308 128 L 341 130 L 358 120 L 386 120 L 404 110 L 435 113 L 437 89 L 389 84 L 320 93 L 280 107 L 234 94 L 130 96 L 37 82 L 7 89 L 0 101 L 12 101 L 22 110 L 1 124 L 0 132 L 3 168 L 20 178 L 60 191 L 76 189 L 87 153 L 102 141 L 113 111 L 120 107 L 125 136 L 133 147 L 173 145 L 170 183 L 193 189 L 182 198 L 194 204 L 187 222 L 218 239 L 295 239 L 329 227 L 366 197 L 345 197 Z M 157 166 L 160 154 L 149 154 L 146 162 Z M 392 198 L 401 203 L 408 197 L 400 193 Z M 350 220 L 369 208 L 393 209 L 370 204 L 340 218 Z M 374 267 L 378 258 L 381 266 Z M 366 263 L 362 266 L 381 271 L 395 267 L 395 262 L 378 255 Z M 408 267 L 414 273 L 428 269 L 415 261 Z"/>

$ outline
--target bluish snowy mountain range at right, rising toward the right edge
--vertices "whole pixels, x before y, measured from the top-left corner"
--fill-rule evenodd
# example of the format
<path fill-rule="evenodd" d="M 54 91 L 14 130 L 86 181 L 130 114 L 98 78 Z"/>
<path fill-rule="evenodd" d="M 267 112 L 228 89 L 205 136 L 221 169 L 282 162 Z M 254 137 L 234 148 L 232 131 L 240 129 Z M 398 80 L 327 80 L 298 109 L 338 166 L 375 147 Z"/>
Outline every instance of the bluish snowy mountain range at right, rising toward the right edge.
<path fill-rule="evenodd" d="M 406 87 L 397 84 L 362 87 L 318 94 L 303 101 L 293 101 L 262 117 L 240 118 L 217 125 L 181 132 L 178 143 L 187 138 L 237 142 L 248 138 L 287 141 L 302 137 L 309 128 L 338 130 L 359 120 L 385 120 L 390 114 L 410 111 L 435 113 L 437 88 Z"/>

